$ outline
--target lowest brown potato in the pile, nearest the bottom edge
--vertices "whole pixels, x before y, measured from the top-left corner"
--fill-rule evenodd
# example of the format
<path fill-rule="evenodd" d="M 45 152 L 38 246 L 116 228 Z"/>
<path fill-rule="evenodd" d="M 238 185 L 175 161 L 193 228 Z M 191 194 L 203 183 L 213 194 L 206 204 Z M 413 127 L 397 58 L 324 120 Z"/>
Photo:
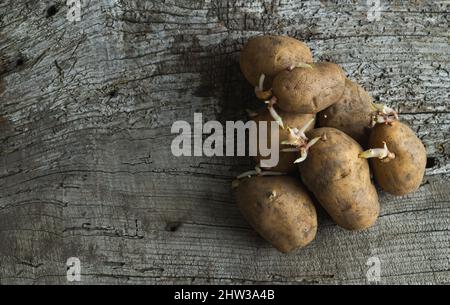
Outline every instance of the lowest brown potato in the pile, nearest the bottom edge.
<path fill-rule="evenodd" d="M 244 178 L 236 189 L 236 201 L 250 225 L 281 252 L 304 247 L 316 235 L 316 209 L 293 177 Z"/>

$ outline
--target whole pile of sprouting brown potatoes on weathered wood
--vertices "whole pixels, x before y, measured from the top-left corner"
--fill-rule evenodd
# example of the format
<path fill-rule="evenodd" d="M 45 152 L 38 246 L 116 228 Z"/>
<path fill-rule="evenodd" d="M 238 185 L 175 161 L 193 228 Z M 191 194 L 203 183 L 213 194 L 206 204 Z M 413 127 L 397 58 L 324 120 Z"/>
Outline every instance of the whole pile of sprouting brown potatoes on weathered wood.
<path fill-rule="evenodd" d="M 238 176 L 236 201 L 275 248 L 289 252 L 314 239 L 316 201 L 345 229 L 372 226 L 380 205 L 371 172 L 393 195 L 419 187 L 424 145 L 337 64 L 314 63 L 308 46 L 296 39 L 259 36 L 244 46 L 240 65 L 267 104 L 252 119 L 279 123 L 280 162 Z"/>

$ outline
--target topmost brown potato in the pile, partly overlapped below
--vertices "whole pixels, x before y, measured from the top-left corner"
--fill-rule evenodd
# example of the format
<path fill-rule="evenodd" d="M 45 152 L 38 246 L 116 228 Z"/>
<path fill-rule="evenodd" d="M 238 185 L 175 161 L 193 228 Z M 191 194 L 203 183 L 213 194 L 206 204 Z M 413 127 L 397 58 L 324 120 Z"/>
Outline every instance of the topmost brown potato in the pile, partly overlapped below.
<path fill-rule="evenodd" d="M 265 74 L 265 90 L 272 87 L 272 80 L 280 71 L 296 63 L 312 61 L 308 46 L 287 36 L 250 38 L 240 56 L 241 71 L 250 84 L 257 86 L 261 74 Z"/>

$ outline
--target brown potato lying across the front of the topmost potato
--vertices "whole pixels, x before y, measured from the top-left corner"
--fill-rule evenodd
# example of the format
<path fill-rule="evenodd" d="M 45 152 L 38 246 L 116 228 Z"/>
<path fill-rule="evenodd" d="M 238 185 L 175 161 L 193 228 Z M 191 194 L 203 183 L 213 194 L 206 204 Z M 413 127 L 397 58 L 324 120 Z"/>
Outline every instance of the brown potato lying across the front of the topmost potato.
<path fill-rule="evenodd" d="M 344 71 L 334 63 L 282 71 L 273 80 L 277 105 L 287 112 L 317 113 L 334 104 L 344 93 Z"/>

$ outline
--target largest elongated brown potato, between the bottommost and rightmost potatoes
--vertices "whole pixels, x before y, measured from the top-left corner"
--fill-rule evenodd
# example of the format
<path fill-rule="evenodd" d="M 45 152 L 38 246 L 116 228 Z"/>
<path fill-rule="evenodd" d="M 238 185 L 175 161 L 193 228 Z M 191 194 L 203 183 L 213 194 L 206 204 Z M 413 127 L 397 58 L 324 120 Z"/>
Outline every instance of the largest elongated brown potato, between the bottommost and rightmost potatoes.
<path fill-rule="evenodd" d="M 370 180 L 369 163 L 358 157 L 361 146 L 334 128 L 313 129 L 307 135 L 322 139 L 299 164 L 305 186 L 339 226 L 348 230 L 372 226 L 380 205 Z"/>

